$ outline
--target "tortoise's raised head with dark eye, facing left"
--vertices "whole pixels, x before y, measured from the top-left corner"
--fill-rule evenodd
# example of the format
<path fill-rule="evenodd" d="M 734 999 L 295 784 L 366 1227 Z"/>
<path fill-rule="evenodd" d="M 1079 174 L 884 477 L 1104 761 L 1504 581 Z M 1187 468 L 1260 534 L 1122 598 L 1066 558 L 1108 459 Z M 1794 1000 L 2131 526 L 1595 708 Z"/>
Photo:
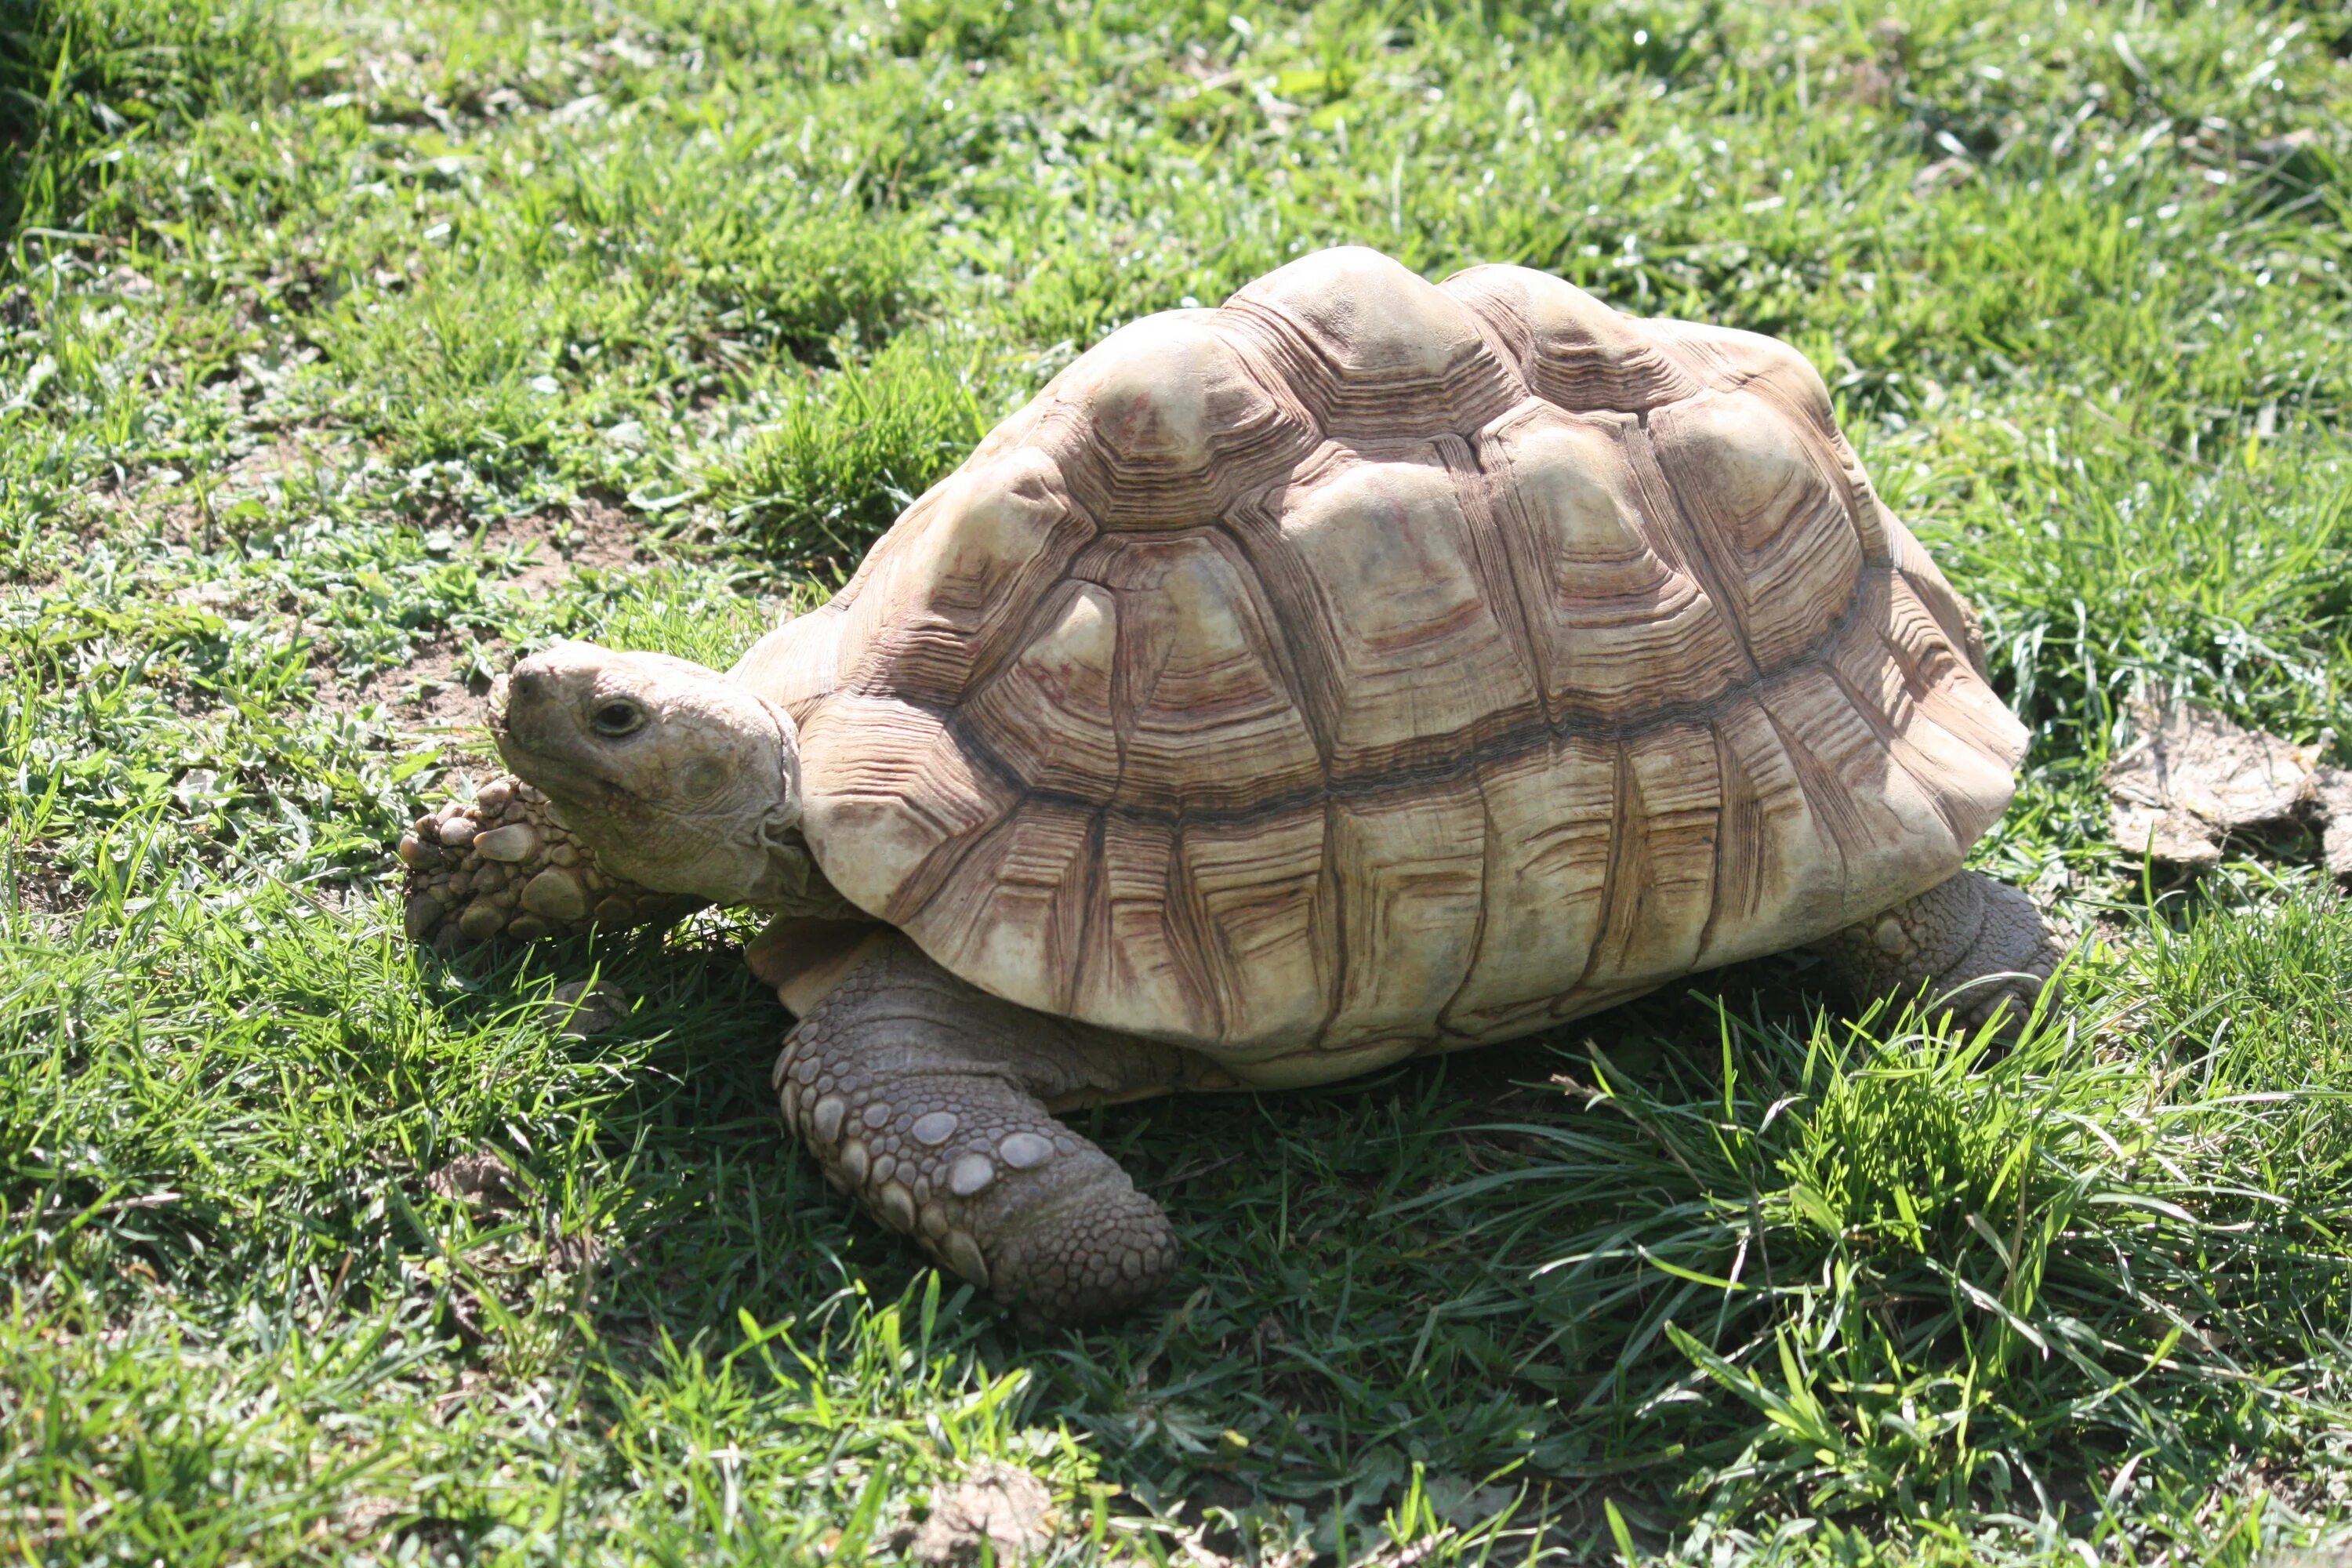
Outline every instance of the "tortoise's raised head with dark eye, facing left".
<path fill-rule="evenodd" d="M 557 642 L 499 679 L 489 729 L 506 766 L 640 886 L 769 903 L 800 856 L 793 717 L 717 670 Z"/>

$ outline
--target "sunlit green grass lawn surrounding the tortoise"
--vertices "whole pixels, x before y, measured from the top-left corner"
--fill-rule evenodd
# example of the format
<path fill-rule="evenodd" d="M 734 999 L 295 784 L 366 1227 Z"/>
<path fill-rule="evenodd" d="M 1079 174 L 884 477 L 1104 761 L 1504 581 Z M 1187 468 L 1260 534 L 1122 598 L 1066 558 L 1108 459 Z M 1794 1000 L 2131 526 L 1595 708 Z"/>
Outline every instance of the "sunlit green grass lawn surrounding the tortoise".
<path fill-rule="evenodd" d="M 2338 5 L 5 0 L 0 158 L 0 1556 L 938 1559 L 990 1467 L 1073 1563 L 2352 1530 L 2352 905 L 2103 790 L 2154 686 L 2352 759 Z M 2060 1011 L 1773 961 L 1089 1112 L 1188 1265 L 1030 1333 L 786 1140 L 743 922 L 402 940 L 492 672 L 727 663 L 1331 242 L 1820 367 L 2032 726 Z"/>

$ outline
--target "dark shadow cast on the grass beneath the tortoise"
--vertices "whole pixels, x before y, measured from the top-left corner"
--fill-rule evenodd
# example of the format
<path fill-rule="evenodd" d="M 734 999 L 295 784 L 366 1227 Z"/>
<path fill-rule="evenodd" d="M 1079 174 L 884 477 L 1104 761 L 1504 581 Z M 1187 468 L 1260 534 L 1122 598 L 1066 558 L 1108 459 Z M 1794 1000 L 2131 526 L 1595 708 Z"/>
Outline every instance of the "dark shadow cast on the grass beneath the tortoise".
<path fill-rule="evenodd" d="M 593 961 L 548 950 L 536 969 Z M 449 1027 L 494 1025 L 527 990 L 524 964 L 442 966 Z M 616 945 L 600 973 L 640 997 L 623 1030 L 569 1048 L 616 1079 L 593 1138 L 621 1175 L 607 1175 L 604 1260 L 581 1298 L 609 1378 L 670 1378 L 677 1347 L 724 1354 L 746 1314 L 797 1324 L 793 1342 L 818 1363 L 866 1354 L 894 1305 L 915 1316 L 922 1255 L 830 1192 L 781 1126 L 769 1067 L 788 1016 L 739 954 Z M 1628 1063 L 1703 1023 L 1686 1001 L 1599 1020 Z M 1087 1436 L 1101 1476 L 1157 1514 L 1221 1509 L 1232 1542 L 1322 1530 L 1331 1544 L 1406 1497 L 1470 1528 L 1522 1488 L 1583 1535 L 1595 1481 L 1661 1455 L 1635 1455 L 1621 1415 L 1595 1413 L 1609 1363 L 1588 1359 L 1557 1281 L 1534 1272 L 1545 1229 L 1517 1222 L 1510 1194 L 1399 1211 L 1529 1171 L 1541 1143 L 1524 1128 L 1585 1114 L 1550 1081 L 1564 1067 L 1559 1046 L 1519 1041 L 1322 1091 L 1080 1114 L 1176 1220 L 1176 1286 L 1115 1328 L 1054 1333 L 941 1279 L 924 1354 L 981 1382 L 1025 1375 L 1025 1425 Z M 555 1185 L 560 1161 L 541 1164 L 536 1180 Z M 1672 1490 L 1656 1481 L 1642 1490 Z"/>

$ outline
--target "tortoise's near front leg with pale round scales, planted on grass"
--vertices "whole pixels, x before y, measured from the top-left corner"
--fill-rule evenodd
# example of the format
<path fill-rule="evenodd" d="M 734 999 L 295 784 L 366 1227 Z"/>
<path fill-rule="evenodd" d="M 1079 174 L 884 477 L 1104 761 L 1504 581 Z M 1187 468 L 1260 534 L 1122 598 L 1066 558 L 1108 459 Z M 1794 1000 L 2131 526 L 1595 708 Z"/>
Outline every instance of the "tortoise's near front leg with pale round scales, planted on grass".
<path fill-rule="evenodd" d="M 786 1121 L 833 1185 L 1044 1321 L 1150 1300 L 1176 1269 L 1176 1232 L 1047 1107 L 1204 1084 L 1207 1063 L 1000 1001 L 898 933 L 866 952 L 776 1060 Z"/>

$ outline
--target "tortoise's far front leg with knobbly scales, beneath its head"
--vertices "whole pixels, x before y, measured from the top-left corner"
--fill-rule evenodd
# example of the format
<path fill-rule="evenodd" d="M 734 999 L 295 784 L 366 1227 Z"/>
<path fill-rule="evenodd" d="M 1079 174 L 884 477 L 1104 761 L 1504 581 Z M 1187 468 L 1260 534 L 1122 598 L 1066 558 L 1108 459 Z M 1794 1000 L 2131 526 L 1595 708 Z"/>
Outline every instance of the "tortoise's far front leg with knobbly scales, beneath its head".
<path fill-rule="evenodd" d="M 555 820 L 548 797 L 520 778 L 496 778 L 470 802 L 426 811 L 400 837 L 400 858 L 409 867 L 409 940 L 430 940 L 440 952 L 494 936 L 673 924 L 703 907 L 600 867 Z"/>

